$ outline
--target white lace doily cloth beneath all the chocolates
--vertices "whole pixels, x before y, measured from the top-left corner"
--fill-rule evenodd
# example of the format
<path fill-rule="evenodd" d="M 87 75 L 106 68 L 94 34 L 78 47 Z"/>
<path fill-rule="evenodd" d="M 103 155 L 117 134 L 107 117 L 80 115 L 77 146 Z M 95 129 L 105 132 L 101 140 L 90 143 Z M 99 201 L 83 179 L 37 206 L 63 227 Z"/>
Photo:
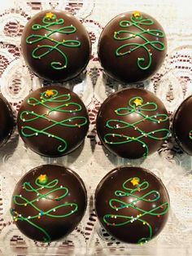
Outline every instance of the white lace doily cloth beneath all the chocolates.
<path fill-rule="evenodd" d="M 64 86 L 76 91 L 89 110 L 89 134 L 84 145 L 67 157 L 40 157 L 24 146 L 17 131 L 0 151 L 0 255 L 191 255 L 192 158 L 169 138 L 159 152 L 145 161 L 114 157 L 101 146 L 95 132 L 100 104 L 111 92 L 126 85 L 103 76 L 97 57 L 98 37 L 115 15 L 141 10 L 159 20 L 167 33 L 168 56 L 151 80 L 140 82 L 164 101 L 172 114 L 192 94 L 192 15 L 190 1 L 182 0 L 7 0 L 0 2 L 0 90 L 16 111 L 30 90 L 41 86 L 24 64 L 20 36 L 27 20 L 37 11 L 58 8 L 81 19 L 93 44 L 85 75 Z M 101 161 L 102 159 L 102 161 Z M 85 217 L 72 234 L 49 245 L 30 241 L 12 223 L 9 208 L 15 183 L 35 166 L 58 163 L 75 170 L 85 182 L 89 203 Z M 94 191 L 116 166 L 140 165 L 157 174 L 168 188 L 171 211 L 163 232 L 146 245 L 127 245 L 109 236 L 94 212 Z"/>

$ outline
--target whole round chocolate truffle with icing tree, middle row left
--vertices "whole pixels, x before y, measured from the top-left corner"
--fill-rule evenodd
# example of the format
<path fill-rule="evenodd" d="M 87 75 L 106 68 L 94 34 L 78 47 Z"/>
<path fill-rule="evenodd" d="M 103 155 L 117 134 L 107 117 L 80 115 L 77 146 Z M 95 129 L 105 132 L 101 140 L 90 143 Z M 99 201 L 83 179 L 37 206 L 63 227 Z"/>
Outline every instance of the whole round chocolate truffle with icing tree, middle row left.
<path fill-rule="evenodd" d="M 61 157 L 79 147 L 89 129 L 81 99 L 61 86 L 46 86 L 24 99 L 17 118 L 24 143 L 46 157 Z"/>

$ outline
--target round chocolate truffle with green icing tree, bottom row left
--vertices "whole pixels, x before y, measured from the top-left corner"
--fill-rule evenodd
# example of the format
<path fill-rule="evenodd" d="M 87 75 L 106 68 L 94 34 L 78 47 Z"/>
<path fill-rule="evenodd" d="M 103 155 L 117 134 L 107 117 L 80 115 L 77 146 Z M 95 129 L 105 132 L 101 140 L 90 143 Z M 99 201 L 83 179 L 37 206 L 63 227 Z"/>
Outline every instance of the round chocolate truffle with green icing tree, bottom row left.
<path fill-rule="evenodd" d="M 84 183 L 63 166 L 38 166 L 16 184 L 11 215 L 20 232 L 50 242 L 72 232 L 85 214 Z"/>

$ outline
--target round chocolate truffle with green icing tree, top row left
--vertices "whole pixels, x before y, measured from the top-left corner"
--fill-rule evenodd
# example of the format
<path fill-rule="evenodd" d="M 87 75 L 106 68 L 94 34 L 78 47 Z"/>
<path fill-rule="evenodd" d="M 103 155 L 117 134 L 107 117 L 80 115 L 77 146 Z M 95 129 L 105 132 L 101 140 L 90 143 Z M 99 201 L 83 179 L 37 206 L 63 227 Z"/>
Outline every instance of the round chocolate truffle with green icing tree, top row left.
<path fill-rule="evenodd" d="M 38 77 L 67 81 L 83 71 L 91 51 L 89 34 L 65 11 L 41 11 L 28 21 L 21 38 L 24 60 Z"/>

